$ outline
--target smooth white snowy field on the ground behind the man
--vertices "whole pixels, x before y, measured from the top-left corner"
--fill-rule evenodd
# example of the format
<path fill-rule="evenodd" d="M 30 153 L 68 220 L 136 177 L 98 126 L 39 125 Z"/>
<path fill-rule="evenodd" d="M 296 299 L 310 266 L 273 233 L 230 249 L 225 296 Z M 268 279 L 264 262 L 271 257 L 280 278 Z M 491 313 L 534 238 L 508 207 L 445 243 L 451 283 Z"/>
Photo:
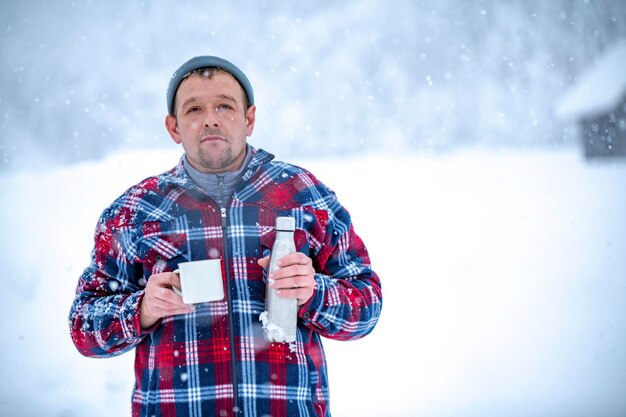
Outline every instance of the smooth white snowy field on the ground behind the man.
<path fill-rule="evenodd" d="M 129 415 L 132 353 L 80 356 L 67 314 L 102 209 L 178 157 L 0 176 L 1 416 Z M 626 415 L 625 161 L 473 150 L 300 164 L 352 212 L 383 282 L 374 333 L 326 343 L 335 417 Z"/>

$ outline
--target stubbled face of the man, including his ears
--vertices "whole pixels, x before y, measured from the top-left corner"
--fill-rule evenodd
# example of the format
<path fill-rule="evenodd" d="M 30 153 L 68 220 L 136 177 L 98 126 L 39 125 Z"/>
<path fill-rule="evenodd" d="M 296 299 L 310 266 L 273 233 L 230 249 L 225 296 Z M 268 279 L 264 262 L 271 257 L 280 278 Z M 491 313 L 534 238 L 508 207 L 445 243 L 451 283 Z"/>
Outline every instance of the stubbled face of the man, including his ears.
<path fill-rule="evenodd" d="M 168 115 L 165 126 L 195 169 L 222 173 L 241 167 L 256 108 L 245 110 L 245 93 L 232 75 L 191 75 L 178 87 L 175 106 L 176 117 Z"/>

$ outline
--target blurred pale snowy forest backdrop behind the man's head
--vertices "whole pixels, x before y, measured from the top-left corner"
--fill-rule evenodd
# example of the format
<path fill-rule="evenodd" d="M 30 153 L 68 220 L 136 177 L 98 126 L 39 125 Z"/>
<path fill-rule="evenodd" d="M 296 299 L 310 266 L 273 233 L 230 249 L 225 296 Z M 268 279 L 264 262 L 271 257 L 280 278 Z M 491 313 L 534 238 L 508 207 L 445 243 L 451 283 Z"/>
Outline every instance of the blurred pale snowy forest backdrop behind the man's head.
<path fill-rule="evenodd" d="M 0 171 L 173 146 L 199 54 L 247 73 L 280 156 L 572 145 L 555 100 L 625 38 L 623 0 L 2 2 Z"/>

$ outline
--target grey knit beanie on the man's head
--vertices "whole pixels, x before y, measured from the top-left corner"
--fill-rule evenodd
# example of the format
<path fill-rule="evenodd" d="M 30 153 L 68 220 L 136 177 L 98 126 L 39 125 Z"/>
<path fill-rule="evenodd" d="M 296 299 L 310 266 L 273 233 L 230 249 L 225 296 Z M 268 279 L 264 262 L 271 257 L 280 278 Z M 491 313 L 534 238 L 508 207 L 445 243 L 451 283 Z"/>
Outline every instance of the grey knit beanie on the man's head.
<path fill-rule="evenodd" d="M 174 99 L 176 98 L 176 91 L 178 91 L 180 83 L 187 75 L 189 75 L 189 73 L 201 68 L 219 68 L 228 72 L 230 75 L 235 77 L 237 81 L 239 81 L 239 84 L 241 84 L 243 91 L 245 91 L 246 96 L 248 97 L 248 104 L 254 104 L 252 85 L 250 84 L 250 81 L 248 81 L 248 77 L 246 77 L 246 75 L 241 72 L 239 68 L 225 59 L 218 58 L 216 56 L 197 56 L 185 62 L 176 70 L 176 72 L 174 72 L 174 74 L 172 74 L 170 85 L 167 87 L 167 111 L 169 114 L 174 114 Z"/>

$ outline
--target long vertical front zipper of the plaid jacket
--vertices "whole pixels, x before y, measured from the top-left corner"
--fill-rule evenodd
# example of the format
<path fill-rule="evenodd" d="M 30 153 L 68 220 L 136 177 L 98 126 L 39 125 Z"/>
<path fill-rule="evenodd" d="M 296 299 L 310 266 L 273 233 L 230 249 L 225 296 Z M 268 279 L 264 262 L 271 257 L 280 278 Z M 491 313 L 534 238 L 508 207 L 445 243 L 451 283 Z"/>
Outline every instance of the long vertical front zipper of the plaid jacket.
<path fill-rule="evenodd" d="M 230 336 L 230 362 L 232 366 L 233 373 L 233 413 L 235 415 L 240 414 L 239 409 L 239 374 L 238 374 L 238 366 L 237 366 L 237 353 L 235 351 L 235 320 L 234 320 L 234 312 L 233 312 L 233 303 L 232 303 L 232 295 L 231 295 L 231 281 L 232 278 L 230 276 L 230 252 L 228 250 L 228 218 L 226 212 L 226 204 L 224 201 L 224 177 L 218 177 L 219 179 L 219 187 L 221 190 L 221 204 L 220 204 L 220 215 L 222 218 L 222 236 L 224 241 L 224 271 L 226 272 L 226 302 L 228 307 L 228 333 Z M 232 197 L 231 197 L 232 198 Z M 228 205 L 230 205 L 230 200 L 228 201 Z"/>

